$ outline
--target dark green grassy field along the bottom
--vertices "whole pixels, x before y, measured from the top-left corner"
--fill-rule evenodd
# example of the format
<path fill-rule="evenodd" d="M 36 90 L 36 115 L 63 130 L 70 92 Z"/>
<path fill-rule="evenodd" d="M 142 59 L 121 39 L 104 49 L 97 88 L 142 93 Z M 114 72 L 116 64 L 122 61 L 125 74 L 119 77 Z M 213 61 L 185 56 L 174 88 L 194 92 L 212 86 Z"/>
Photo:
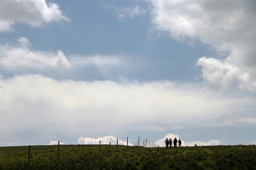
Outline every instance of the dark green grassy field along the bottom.
<path fill-rule="evenodd" d="M 256 145 L 165 147 L 31 146 L 29 169 L 256 169 Z M 0 147 L 0 169 L 27 169 L 28 146 Z"/>

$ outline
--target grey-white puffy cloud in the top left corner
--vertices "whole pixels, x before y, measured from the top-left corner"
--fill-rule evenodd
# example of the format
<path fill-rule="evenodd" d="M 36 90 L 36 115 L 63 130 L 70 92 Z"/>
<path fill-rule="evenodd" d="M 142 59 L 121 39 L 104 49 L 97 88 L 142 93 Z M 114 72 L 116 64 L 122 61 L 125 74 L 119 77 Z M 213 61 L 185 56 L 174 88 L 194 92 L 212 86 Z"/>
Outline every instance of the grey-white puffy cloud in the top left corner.
<path fill-rule="evenodd" d="M 45 0 L 1 0 L 0 2 L 0 32 L 11 31 L 16 22 L 39 27 L 43 23 L 52 21 L 70 21 L 58 4 L 46 3 Z"/>

